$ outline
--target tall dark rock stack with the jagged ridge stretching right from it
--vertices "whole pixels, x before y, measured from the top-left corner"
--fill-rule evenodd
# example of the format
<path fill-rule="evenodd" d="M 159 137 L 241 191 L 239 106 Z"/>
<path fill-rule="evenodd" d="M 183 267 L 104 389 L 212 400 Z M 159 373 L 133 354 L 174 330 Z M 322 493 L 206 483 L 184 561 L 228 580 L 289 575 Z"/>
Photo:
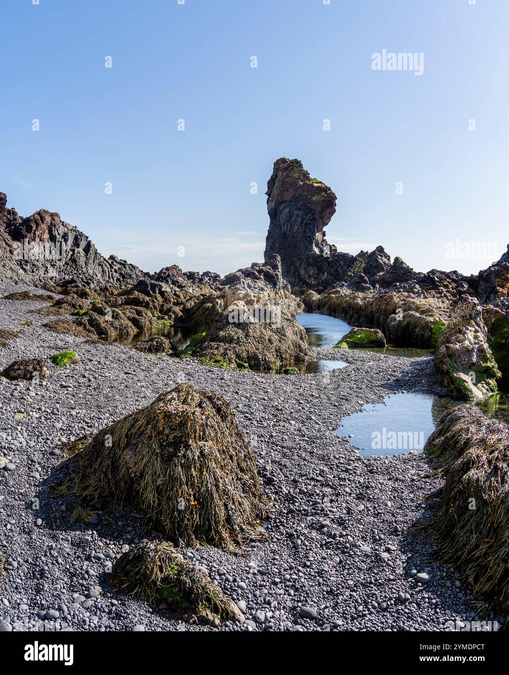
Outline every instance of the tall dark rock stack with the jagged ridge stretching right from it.
<path fill-rule="evenodd" d="M 362 292 L 378 287 L 418 293 L 444 288 L 449 293 L 464 284 L 462 293 L 475 294 L 475 277 L 456 271 L 416 273 L 399 257 L 391 262 L 383 246 L 355 256 L 338 251 L 327 242 L 324 230 L 336 211 L 336 195 L 322 181 L 311 178 L 299 159 L 276 159 L 267 188 L 270 224 L 265 259 L 280 255 L 282 275 L 294 292 L 321 293 L 330 288 Z M 502 268 L 498 277 L 505 281 Z M 489 279 L 487 283 L 494 284 Z"/>

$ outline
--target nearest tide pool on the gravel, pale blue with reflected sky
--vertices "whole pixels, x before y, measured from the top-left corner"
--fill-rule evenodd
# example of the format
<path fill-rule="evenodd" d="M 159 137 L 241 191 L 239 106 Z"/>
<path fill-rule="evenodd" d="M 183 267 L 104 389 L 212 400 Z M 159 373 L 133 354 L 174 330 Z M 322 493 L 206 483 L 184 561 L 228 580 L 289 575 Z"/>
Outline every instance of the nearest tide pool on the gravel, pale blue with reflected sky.
<path fill-rule="evenodd" d="M 421 451 L 442 414 L 463 404 L 432 394 L 390 394 L 383 403 L 366 404 L 359 412 L 342 418 L 334 433 L 348 437 L 363 456 L 386 457 Z M 505 394 L 477 405 L 488 417 L 509 422 L 509 398 Z"/>

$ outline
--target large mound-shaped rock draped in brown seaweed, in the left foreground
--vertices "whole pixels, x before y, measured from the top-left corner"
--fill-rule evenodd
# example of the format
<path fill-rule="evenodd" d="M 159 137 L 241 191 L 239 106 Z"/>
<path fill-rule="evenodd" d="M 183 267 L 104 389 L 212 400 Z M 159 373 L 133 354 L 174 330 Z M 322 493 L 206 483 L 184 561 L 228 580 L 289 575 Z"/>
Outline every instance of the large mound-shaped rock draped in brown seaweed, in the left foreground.
<path fill-rule="evenodd" d="M 256 461 L 227 400 L 187 383 L 67 449 L 55 491 L 134 506 L 177 545 L 235 549 L 266 517 Z"/>

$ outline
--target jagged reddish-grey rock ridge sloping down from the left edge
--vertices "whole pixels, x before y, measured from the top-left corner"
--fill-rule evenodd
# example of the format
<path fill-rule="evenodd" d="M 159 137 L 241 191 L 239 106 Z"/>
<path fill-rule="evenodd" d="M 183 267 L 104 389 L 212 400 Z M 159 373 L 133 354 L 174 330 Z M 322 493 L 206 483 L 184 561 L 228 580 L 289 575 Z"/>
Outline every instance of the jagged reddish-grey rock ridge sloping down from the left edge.
<path fill-rule="evenodd" d="M 40 209 L 24 218 L 0 192 L 0 281 L 130 286 L 146 277 L 136 265 L 104 258 L 77 227 Z"/>

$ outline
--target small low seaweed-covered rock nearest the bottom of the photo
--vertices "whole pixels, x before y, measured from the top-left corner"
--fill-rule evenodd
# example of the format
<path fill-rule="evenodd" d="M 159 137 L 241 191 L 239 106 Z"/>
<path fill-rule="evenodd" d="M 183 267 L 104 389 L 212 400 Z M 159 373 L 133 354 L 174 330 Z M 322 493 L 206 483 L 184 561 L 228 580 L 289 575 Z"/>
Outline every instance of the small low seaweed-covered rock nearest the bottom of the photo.
<path fill-rule="evenodd" d="M 113 565 L 111 584 L 118 591 L 139 593 L 150 603 L 211 620 L 214 616 L 244 622 L 244 616 L 204 568 L 185 560 L 171 543 L 144 539 Z"/>

